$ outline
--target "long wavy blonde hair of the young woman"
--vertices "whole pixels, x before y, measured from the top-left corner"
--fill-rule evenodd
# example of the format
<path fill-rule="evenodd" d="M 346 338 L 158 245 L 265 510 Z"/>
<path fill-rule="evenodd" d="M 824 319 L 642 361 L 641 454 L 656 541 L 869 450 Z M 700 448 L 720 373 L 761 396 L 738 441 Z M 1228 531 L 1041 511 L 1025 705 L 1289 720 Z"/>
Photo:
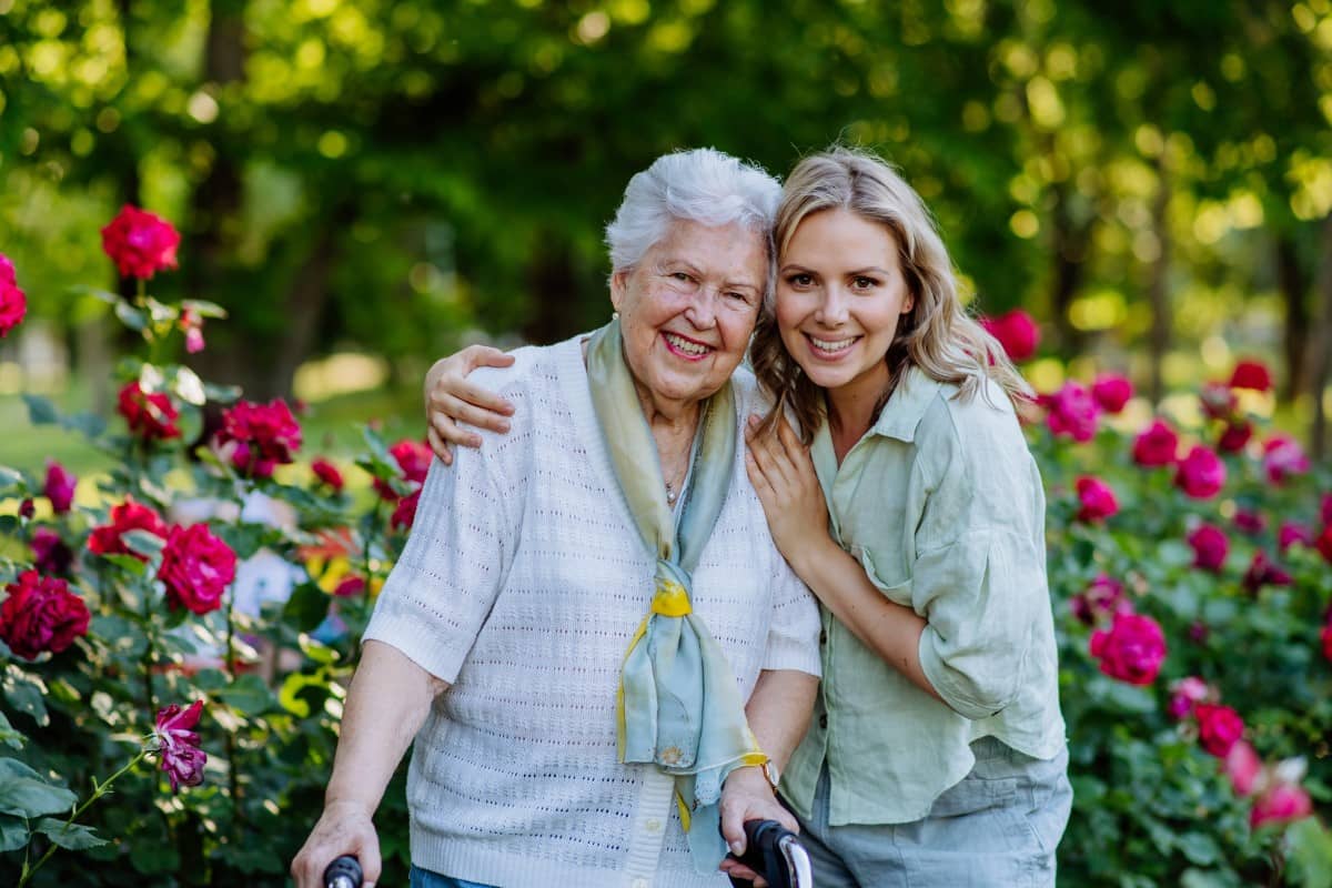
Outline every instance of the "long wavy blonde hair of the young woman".
<path fill-rule="evenodd" d="M 803 158 L 787 177 L 777 209 L 773 233 L 778 256 L 786 252 L 805 217 L 829 209 L 850 210 L 892 232 L 902 276 L 914 297 L 911 310 L 898 320 L 896 335 L 884 355 L 890 385 L 875 415 L 911 366 L 939 382 L 956 385 L 960 398 L 984 393 L 984 381 L 990 378 L 1011 401 L 1031 399 L 1031 386 L 999 342 L 967 316 L 943 240 L 924 201 L 906 180 L 879 157 L 840 145 Z M 771 431 L 777 418 L 790 411 L 807 445 L 827 415 L 827 403 L 823 390 L 805 375 L 782 345 L 774 306 L 775 296 L 766 302 L 750 343 L 754 374 L 773 398 L 762 430 Z"/>

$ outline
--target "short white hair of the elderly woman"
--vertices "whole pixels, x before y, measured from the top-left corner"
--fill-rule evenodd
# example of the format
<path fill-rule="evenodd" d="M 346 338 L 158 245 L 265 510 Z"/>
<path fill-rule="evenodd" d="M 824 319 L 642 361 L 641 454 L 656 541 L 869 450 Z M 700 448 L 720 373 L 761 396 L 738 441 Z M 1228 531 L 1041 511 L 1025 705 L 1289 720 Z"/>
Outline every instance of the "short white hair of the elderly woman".
<path fill-rule="evenodd" d="M 775 178 L 714 148 L 662 154 L 629 180 L 625 200 L 606 225 L 611 274 L 631 270 L 675 220 L 709 228 L 739 224 L 757 232 L 773 265 L 773 222 L 781 201 L 782 185 Z M 773 277 L 770 270 L 767 289 Z"/>

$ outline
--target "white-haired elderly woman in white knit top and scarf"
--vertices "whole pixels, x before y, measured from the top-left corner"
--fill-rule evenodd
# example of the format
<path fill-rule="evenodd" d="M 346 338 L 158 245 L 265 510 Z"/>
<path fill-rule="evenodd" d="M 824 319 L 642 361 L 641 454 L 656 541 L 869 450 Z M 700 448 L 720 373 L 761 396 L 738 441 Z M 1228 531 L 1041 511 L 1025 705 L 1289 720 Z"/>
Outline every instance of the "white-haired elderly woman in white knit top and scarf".
<path fill-rule="evenodd" d="M 746 479 L 737 373 L 779 198 L 718 152 L 659 158 L 606 230 L 617 318 L 477 374 L 517 418 L 432 467 L 301 888 L 342 853 L 378 876 L 372 813 L 413 738 L 413 885 L 725 885 L 743 820 L 795 825 L 771 789 L 819 616 Z"/>

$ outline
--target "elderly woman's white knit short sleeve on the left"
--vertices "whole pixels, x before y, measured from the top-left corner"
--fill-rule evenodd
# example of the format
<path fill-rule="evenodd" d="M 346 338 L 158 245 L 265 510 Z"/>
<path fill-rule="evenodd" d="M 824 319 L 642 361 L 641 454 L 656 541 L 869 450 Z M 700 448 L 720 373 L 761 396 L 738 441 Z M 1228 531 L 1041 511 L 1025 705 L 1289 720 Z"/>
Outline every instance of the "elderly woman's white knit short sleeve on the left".
<path fill-rule="evenodd" d="M 432 461 L 406 547 L 365 630 L 365 639 L 392 644 L 450 684 L 513 562 L 521 495 L 500 463 L 521 458 L 517 450 L 488 441 L 481 450 L 458 447 L 453 467 Z"/>

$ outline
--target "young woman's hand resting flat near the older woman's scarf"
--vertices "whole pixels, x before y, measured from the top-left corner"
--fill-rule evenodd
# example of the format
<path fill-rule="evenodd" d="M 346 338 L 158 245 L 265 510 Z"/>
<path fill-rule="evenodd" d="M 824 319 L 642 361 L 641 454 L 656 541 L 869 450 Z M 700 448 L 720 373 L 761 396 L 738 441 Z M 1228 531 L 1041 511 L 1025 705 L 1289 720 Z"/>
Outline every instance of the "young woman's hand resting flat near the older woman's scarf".
<path fill-rule="evenodd" d="M 827 502 L 810 451 L 786 418 L 778 419 L 774 433 L 759 431 L 761 422 L 758 417 L 750 417 L 745 434 L 745 469 L 763 503 L 773 542 L 801 574 L 802 556 L 813 554 L 819 543 L 831 541 L 826 533 L 813 533 L 829 525 Z"/>

